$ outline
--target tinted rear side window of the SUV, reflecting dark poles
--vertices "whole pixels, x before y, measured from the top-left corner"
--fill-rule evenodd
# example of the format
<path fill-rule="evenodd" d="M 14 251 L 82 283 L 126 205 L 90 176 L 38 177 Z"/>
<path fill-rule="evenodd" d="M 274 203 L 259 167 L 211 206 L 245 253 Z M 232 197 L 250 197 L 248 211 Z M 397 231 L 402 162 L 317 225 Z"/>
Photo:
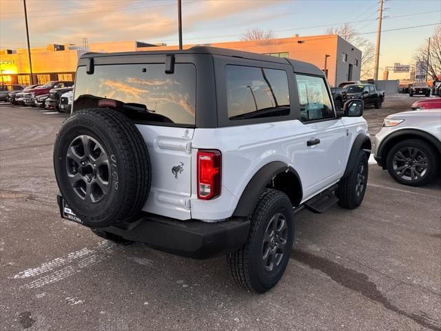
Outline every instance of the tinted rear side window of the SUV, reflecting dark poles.
<path fill-rule="evenodd" d="M 288 77 L 284 70 L 230 65 L 226 74 L 229 119 L 289 115 Z"/>

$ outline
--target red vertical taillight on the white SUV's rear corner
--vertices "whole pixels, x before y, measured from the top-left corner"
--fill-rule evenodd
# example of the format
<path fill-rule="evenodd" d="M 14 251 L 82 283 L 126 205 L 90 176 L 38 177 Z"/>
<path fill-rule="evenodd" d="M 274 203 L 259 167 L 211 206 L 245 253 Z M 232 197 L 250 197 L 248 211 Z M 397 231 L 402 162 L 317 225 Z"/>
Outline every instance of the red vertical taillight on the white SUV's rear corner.
<path fill-rule="evenodd" d="M 218 197 L 221 168 L 222 157 L 218 150 L 198 150 L 198 199 Z"/>

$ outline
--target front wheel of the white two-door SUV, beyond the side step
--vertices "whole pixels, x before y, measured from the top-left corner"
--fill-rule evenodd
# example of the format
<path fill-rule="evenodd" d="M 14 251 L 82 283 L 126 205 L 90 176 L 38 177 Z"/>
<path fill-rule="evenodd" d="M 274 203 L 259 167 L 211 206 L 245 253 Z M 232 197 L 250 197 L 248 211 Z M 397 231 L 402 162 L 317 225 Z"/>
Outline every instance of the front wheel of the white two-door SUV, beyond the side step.
<path fill-rule="evenodd" d="M 365 197 L 368 174 L 369 164 L 366 152 L 359 150 L 349 176 L 340 179 L 338 183 L 336 190 L 338 205 L 347 209 L 354 209 L 361 205 Z"/>

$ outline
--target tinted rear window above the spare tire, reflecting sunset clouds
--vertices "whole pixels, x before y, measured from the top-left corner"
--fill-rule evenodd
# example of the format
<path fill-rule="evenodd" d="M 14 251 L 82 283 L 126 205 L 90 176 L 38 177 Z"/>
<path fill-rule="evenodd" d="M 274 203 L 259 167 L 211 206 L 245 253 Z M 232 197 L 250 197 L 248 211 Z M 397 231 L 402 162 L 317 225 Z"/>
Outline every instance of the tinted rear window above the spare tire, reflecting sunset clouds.
<path fill-rule="evenodd" d="M 165 74 L 164 63 L 95 66 L 94 74 L 79 67 L 74 99 L 82 95 L 141 103 L 147 121 L 192 125 L 196 110 L 196 67 L 176 63 L 174 74 Z M 156 115 L 156 117 L 154 116 Z"/>

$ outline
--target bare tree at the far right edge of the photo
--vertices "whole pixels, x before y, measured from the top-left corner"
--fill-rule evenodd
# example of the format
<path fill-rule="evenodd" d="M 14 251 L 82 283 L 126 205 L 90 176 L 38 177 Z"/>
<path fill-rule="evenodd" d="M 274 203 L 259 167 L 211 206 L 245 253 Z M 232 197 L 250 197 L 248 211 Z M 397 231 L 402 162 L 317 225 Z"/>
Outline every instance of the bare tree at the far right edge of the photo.
<path fill-rule="evenodd" d="M 429 40 L 424 43 L 413 55 L 414 61 L 422 61 L 424 68 L 427 63 L 427 51 L 429 50 Z M 427 77 L 434 81 L 441 80 L 441 26 L 435 28 L 430 40 L 429 65 L 427 66 Z"/>

